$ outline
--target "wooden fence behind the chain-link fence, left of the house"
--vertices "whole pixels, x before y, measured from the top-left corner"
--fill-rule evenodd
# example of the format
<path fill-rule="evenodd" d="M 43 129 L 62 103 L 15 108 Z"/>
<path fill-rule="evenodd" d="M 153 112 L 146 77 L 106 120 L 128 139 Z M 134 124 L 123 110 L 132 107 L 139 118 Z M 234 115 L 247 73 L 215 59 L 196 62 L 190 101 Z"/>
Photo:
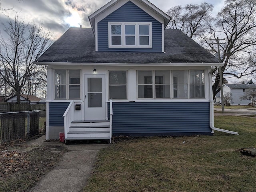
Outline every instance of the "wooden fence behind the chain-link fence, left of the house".
<path fill-rule="evenodd" d="M 33 111 L 33 110 L 46 110 L 46 104 L 33 104 L 33 105 L 30 104 L 28 107 L 27 103 L 21 103 L 21 104 L 0 103 L 0 113 L 23 112 L 23 111 Z M 46 114 L 46 111 L 45 111 L 45 114 Z"/>

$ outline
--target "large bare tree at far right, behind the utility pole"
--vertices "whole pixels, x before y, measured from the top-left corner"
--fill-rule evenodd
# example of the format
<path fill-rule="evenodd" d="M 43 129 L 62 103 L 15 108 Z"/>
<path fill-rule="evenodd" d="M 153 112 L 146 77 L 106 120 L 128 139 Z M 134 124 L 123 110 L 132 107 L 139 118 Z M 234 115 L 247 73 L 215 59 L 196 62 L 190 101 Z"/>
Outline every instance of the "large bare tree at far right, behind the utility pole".
<path fill-rule="evenodd" d="M 217 14 L 214 25 L 208 22 L 208 27 L 201 37 L 210 51 L 217 53 L 218 35 L 224 37 L 220 44 L 221 62 L 224 66 L 216 67 L 212 73 L 214 96 L 220 91 L 220 69 L 224 75 L 241 78 L 256 72 L 256 1 L 226 0 L 224 8 Z"/>

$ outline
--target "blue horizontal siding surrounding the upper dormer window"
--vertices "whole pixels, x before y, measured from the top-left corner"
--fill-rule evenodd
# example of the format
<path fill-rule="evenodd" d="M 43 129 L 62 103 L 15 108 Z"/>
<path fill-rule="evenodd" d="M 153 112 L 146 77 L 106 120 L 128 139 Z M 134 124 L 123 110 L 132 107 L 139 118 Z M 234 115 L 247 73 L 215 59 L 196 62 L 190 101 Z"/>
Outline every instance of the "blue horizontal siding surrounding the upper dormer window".
<path fill-rule="evenodd" d="M 108 48 L 108 22 L 152 22 L 152 48 Z M 98 51 L 162 52 L 162 24 L 129 1 L 98 23 Z"/>

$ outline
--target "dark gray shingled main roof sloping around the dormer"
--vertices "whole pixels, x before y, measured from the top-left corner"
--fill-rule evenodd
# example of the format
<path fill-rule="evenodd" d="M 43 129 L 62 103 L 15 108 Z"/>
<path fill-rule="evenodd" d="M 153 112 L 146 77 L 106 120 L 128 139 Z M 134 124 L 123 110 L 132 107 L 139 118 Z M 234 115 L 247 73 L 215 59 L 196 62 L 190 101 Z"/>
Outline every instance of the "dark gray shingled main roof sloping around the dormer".
<path fill-rule="evenodd" d="M 218 59 L 178 29 L 164 32 L 166 53 L 95 51 L 91 28 L 71 27 L 38 62 L 69 63 L 219 63 Z"/>

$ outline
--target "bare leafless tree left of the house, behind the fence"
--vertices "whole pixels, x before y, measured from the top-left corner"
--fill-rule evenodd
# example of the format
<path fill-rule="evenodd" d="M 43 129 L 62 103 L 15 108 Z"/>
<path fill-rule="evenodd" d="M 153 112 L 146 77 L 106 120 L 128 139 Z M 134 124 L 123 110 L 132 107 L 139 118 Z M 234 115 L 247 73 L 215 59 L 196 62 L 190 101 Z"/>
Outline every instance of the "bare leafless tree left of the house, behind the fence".
<path fill-rule="evenodd" d="M 48 49 L 52 35 L 44 32 L 42 24 L 25 24 L 17 15 L 14 21 L 9 18 L 3 31 L 8 40 L 0 38 L 0 77 L 15 91 L 20 103 L 22 89 L 37 72 L 33 61 Z"/>

